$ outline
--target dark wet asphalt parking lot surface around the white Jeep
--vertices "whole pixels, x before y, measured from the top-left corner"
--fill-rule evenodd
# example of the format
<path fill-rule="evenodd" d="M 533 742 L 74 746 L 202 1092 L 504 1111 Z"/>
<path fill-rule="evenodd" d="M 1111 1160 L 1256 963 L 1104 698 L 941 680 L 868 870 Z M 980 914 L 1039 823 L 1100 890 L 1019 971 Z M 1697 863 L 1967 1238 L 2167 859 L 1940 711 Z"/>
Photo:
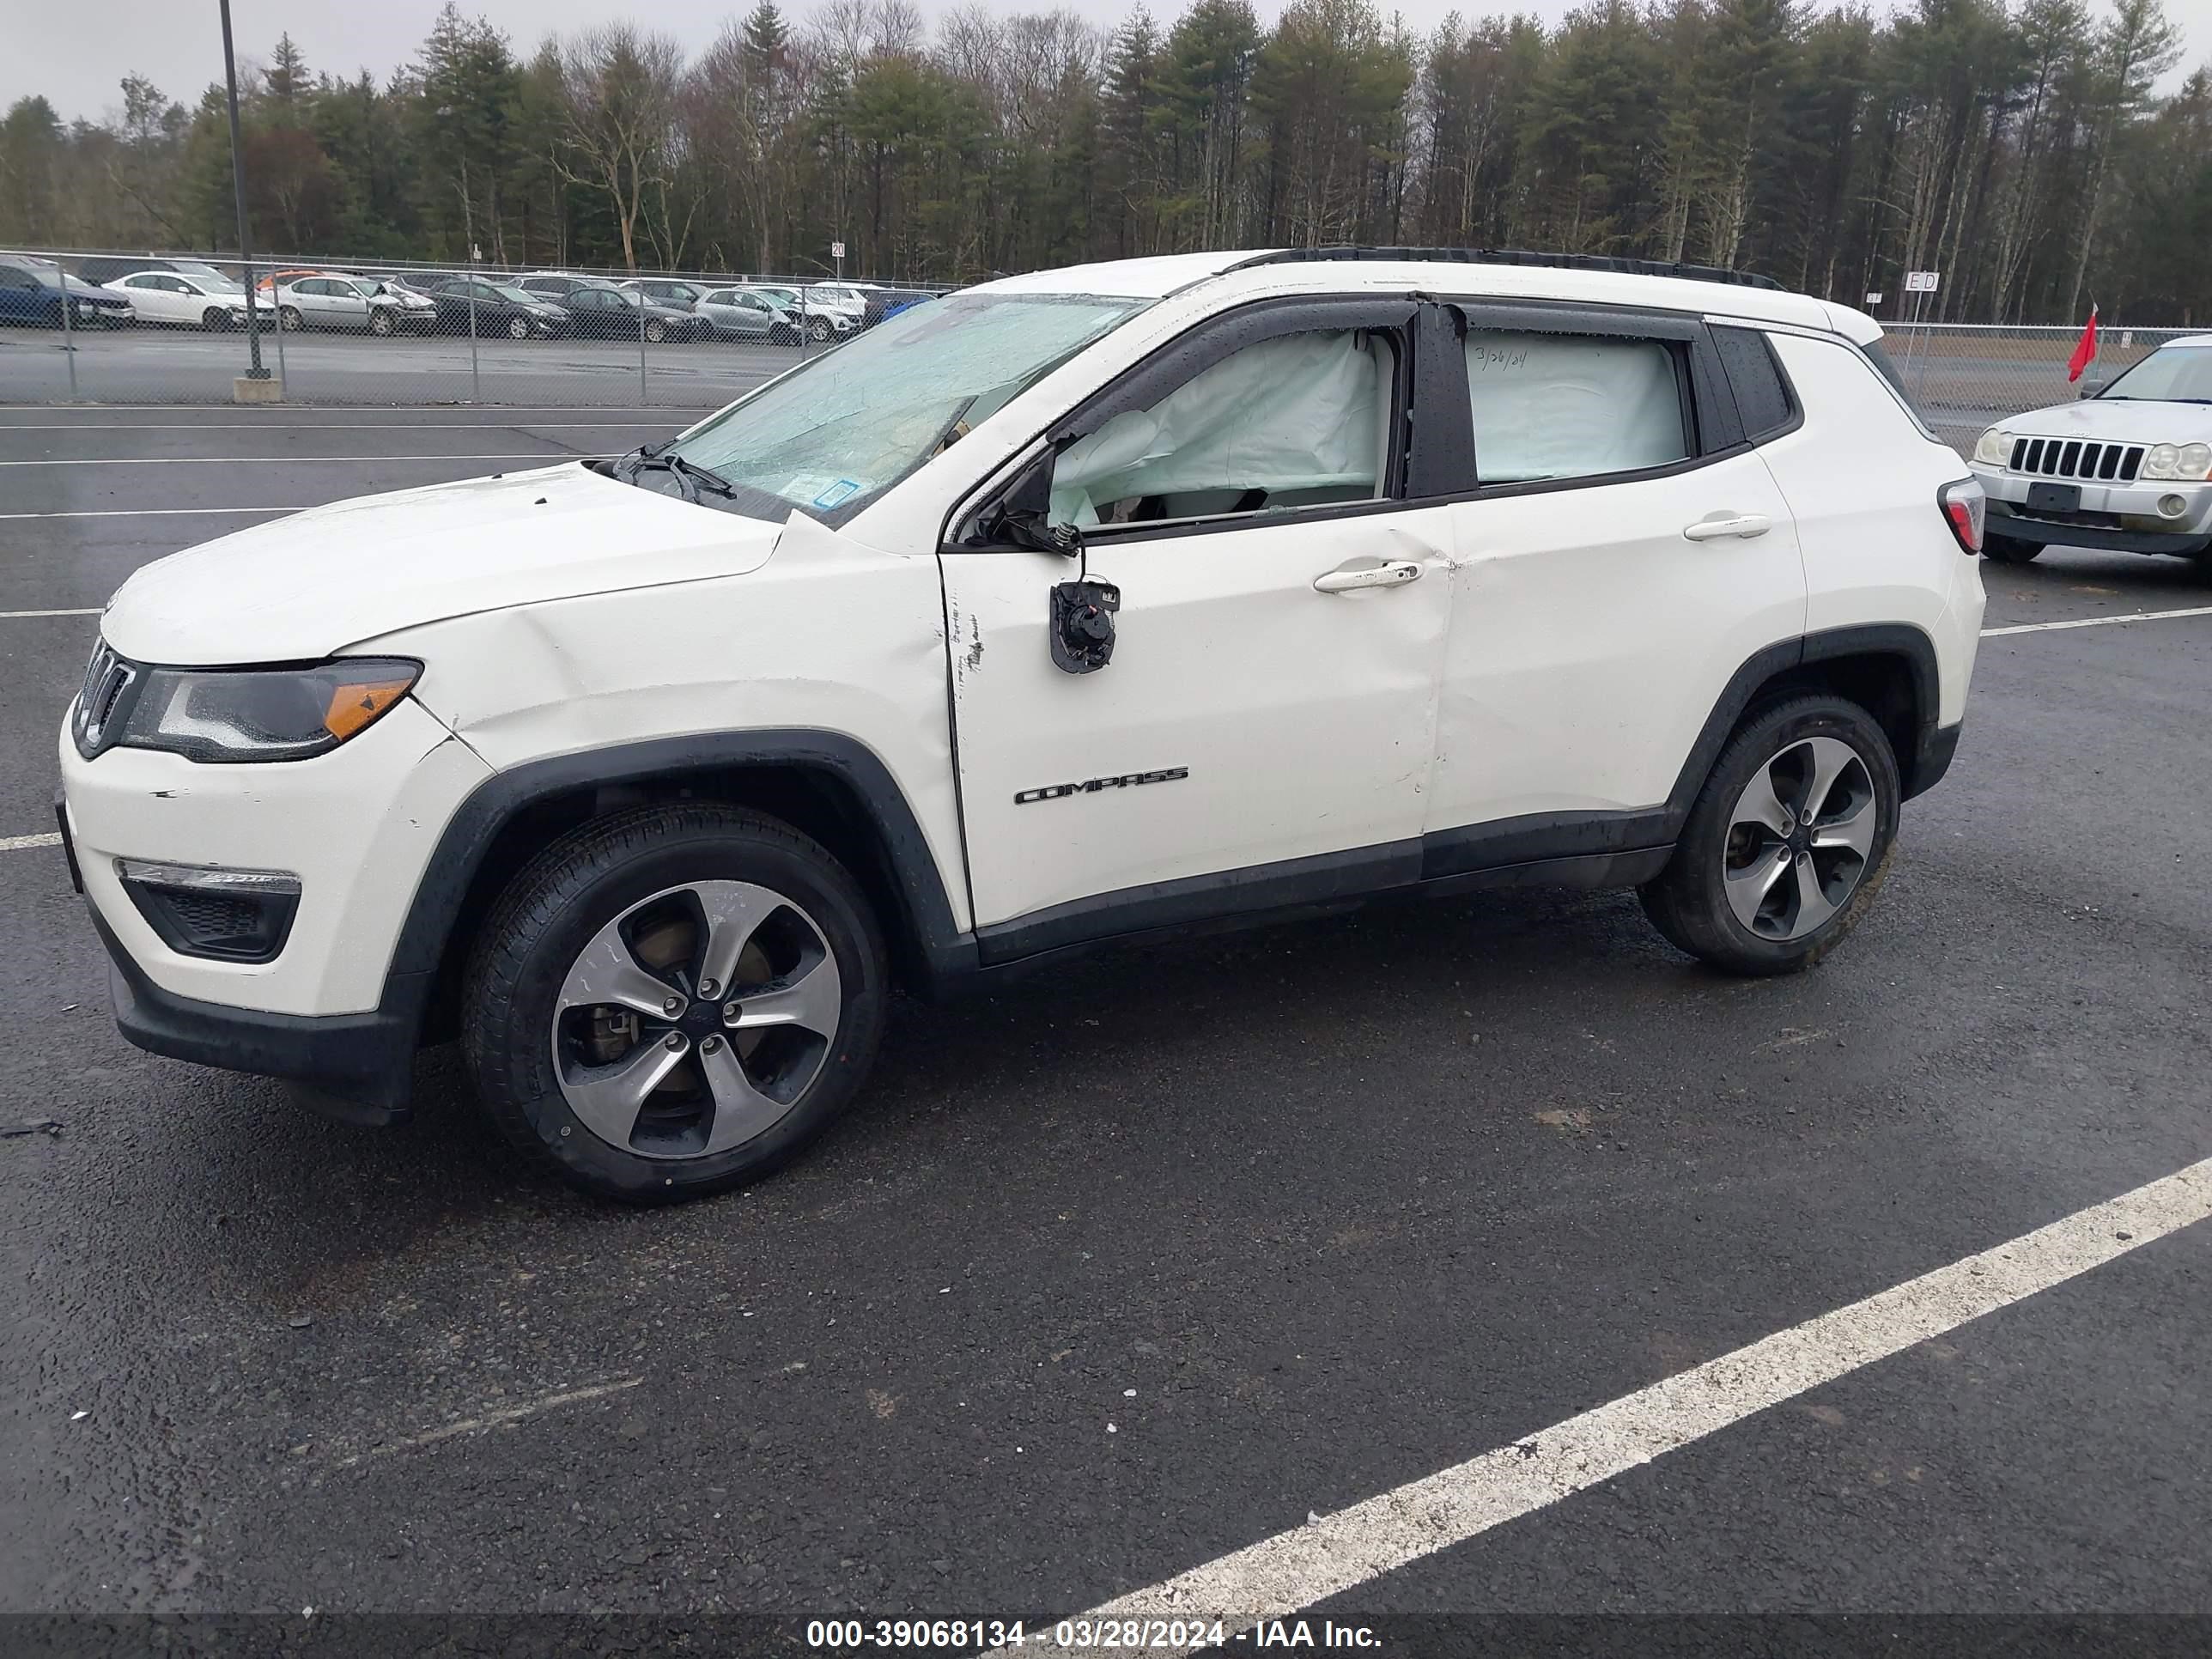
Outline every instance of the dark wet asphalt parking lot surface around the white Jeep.
<path fill-rule="evenodd" d="M 688 418 L 0 409 L 0 1610 L 1035 1626 L 1279 1540 L 1340 1621 L 2212 1613 L 2181 562 L 1984 571 L 1958 765 L 1794 980 L 1705 973 L 1621 894 L 1095 958 L 898 1009 L 807 1159 L 677 1212 L 531 1177 L 447 1053 L 363 1133 L 128 1048 L 46 845 L 108 591 Z M 1644 1394 L 1944 1270 L 1913 1294 L 1951 1314 L 1854 1316 L 1825 1371 L 1721 1367 L 1741 1409 Z M 1663 1455 L 1562 1429 L 1619 1409 Z M 1301 1544 L 1471 1460 L 1374 1571 Z M 1513 1460 L 1551 1486 L 1500 1495 Z"/>

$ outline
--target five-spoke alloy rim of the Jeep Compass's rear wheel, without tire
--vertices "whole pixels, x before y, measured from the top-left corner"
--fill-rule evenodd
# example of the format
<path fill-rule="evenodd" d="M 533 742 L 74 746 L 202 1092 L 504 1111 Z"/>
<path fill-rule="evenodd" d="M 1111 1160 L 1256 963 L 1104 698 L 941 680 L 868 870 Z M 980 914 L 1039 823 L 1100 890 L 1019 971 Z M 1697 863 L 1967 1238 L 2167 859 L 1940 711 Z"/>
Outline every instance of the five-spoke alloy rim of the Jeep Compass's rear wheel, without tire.
<path fill-rule="evenodd" d="M 1730 812 L 1730 911 L 1759 938 L 1805 938 L 1851 900 L 1878 816 L 1858 750 L 1834 737 L 1790 743 L 1752 774 Z"/>

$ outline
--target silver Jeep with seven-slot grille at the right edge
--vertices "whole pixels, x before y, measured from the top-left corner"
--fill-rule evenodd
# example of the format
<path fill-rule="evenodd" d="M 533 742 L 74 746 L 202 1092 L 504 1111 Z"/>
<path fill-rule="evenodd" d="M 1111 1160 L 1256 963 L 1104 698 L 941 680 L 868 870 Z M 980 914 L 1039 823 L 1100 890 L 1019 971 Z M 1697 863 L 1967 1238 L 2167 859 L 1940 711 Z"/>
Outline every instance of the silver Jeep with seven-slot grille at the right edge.
<path fill-rule="evenodd" d="M 1991 427 L 1973 476 L 1989 495 L 1982 551 L 2000 564 L 2051 542 L 2212 562 L 2212 334 Z"/>

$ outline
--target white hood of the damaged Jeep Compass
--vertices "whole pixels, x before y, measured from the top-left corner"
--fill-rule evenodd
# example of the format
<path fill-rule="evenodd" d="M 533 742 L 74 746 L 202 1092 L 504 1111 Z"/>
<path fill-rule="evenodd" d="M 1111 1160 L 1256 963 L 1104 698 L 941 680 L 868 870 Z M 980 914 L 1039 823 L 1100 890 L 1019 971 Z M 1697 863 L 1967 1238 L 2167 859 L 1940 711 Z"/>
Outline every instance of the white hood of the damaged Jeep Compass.
<path fill-rule="evenodd" d="M 100 630 L 155 664 L 314 661 L 425 622 L 741 575 L 781 524 L 582 465 L 310 507 L 137 571 Z"/>

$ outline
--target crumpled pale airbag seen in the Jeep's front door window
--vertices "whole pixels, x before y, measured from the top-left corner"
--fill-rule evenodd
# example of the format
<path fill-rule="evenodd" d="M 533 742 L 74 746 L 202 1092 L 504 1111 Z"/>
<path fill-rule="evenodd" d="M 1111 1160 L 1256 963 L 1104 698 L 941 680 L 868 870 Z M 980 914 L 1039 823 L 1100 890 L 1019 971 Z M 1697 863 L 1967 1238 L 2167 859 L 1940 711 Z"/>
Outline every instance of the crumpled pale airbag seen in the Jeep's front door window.
<path fill-rule="evenodd" d="M 1221 358 L 1053 465 L 1053 520 L 1201 491 L 1376 487 L 1378 352 L 1356 330 L 1285 334 Z"/>

